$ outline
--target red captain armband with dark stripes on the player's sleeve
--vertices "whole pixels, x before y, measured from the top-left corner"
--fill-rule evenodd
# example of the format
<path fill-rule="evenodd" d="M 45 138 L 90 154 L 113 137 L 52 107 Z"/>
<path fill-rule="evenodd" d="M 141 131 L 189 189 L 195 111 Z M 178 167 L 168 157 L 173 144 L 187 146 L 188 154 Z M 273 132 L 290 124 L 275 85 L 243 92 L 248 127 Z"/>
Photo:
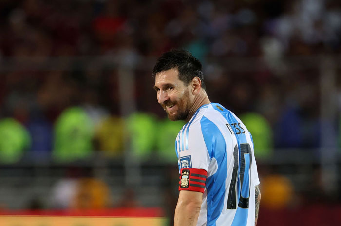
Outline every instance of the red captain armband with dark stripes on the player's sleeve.
<path fill-rule="evenodd" d="M 180 170 L 180 190 L 198 191 L 204 193 L 207 172 L 205 169 L 182 168 Z"/>

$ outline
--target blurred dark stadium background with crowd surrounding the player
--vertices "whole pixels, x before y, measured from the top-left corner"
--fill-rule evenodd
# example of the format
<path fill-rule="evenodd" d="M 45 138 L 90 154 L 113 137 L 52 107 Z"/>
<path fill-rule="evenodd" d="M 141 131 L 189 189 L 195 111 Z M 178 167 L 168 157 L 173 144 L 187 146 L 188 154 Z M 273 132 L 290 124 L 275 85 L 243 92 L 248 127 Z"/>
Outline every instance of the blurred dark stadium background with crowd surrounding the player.
<path fill-rule="evenodd" d="M 258 225 L 341 224 L 340 1 L 1 0 L 0 12 L 0 225 L 120 210 L 172 224 L 183 124 L 151 74 L 176 47 L 254 137 Z"/>

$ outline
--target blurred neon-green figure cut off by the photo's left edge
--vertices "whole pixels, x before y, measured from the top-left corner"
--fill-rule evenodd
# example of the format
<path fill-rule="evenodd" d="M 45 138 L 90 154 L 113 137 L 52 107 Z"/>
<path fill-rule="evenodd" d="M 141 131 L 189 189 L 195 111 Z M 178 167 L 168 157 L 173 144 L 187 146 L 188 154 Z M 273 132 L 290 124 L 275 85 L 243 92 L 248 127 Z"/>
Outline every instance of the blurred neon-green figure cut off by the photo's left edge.
<path fill-rule="evenodd" d="M 31 137 L 24 126 L 13 118 L 0 120 L 0 162 L 18 162 L 31 146 Z"/>

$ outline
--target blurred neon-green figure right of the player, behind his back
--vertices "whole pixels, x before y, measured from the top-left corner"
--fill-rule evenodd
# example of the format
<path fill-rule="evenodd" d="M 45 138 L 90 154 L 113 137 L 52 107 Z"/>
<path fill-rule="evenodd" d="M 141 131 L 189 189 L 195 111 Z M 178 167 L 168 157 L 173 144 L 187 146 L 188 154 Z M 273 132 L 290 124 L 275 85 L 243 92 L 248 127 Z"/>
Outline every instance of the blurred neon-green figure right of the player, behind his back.
<path fill-rule="evenodd" d="M 269 122 L 255 112 L 244 113 L 240 119 L 252 134 L 255 156 L 261 159 L 270 157 L 273 150 L 273 133 Z"/>

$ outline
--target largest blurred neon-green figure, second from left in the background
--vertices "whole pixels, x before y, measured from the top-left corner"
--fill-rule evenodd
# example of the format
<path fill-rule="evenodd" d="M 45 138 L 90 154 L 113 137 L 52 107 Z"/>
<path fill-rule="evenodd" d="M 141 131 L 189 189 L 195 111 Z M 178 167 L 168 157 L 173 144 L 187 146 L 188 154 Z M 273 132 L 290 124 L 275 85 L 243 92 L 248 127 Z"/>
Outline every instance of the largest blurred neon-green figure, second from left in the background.
<path fill-rule="evenodd" d="M 54 128 L 53 156 L 57 161 L 84 159 L 93 151 L 91 119 L 80 107 L 64 110 Z"/>

